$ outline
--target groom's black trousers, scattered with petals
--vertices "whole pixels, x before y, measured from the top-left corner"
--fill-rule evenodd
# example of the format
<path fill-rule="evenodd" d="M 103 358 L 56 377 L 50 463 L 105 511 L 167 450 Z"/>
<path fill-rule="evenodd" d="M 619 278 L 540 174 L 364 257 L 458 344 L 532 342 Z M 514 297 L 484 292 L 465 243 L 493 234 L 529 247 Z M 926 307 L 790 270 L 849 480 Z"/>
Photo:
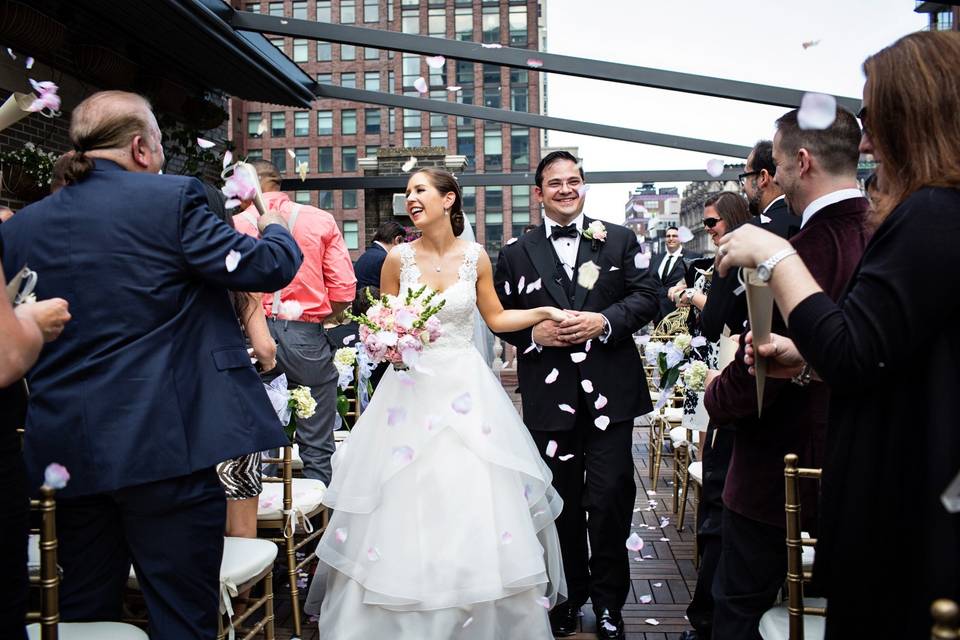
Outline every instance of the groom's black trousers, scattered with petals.
<path fill-rule="evenodd" d="M 557 533 L 568 602 L 580 607 L 589 597 L 594 609 L 619 611 L 630 592 L 630 559 L 624 543 L 630 536 L 637 495 L 633 421 L 613 422 L 601 431 L 593 424 L 581 394 L 572 430 L 530 433 L 563 498 Z M 551 440 L 558 445 L 552 458 L 545 454 Z M 573 458 L 560 460 L 570 453 Z"/>

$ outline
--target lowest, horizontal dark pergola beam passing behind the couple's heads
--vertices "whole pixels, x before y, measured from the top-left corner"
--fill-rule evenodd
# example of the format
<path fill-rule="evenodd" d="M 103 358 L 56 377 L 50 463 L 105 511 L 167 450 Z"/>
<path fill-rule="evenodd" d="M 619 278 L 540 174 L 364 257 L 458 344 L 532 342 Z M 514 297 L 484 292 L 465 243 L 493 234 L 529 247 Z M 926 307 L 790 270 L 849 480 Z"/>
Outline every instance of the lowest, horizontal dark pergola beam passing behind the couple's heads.
<path fill-rule="evenodd" d="M 706 182 L 736 180 L 741 167 L 727 169 L 718 178 L 707 175 L 697 169 L 677 169 L 664 171 L 590 171 L 586 174 L 587 184 L 613 182 Z M 407 186 L 410 175 L 393 176 L 337 176 L 331 178 L 286 178 L 280 184 L 281 191 L 337 191 L 340 189 L 397 189 Z M 511 185 L 532 185 L 533 172 L 518 173 L 461 173 L 457 182 L 464 187 L 498 187 Z"/>

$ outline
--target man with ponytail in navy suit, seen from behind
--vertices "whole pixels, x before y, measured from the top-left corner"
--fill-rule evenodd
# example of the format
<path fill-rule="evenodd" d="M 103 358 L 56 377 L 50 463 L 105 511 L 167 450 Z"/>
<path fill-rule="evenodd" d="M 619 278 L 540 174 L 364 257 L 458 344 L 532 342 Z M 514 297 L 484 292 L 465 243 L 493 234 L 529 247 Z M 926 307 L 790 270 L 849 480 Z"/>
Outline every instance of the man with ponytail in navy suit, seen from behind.
<path fill-rule="evenodd" d="M 273 291 L 302 256 L 283 220 L 262 239 L 206 205 L 199 181 L 157 175 L 149 103 L 92 95 L 73 112 L 68 186 L 2 228 L 8 277 L 73 321 L 30 371 L 24 458 L 71 474 L 57 526 L 63 620 L 110 620 L 132 560 L 153 640 L 214 638 L 226 505 L 215 465 L 286 442 L 250 364 L 229 290 Z M 234 258 L 239 258 L 235 263 Z"/>

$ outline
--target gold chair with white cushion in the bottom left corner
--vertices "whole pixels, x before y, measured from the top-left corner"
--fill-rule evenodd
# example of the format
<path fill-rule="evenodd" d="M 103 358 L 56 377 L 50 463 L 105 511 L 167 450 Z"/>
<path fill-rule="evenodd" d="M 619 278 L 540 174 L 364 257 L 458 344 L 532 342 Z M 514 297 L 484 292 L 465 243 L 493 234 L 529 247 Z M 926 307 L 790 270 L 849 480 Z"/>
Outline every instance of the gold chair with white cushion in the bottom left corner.
<path fill-rule="evenodd" d="M 30 577 L 31 586 L 40 588 L 40 611 L 27 613 L 27 637 L 30 640 L 148 640 L 141 629 L 122 622 L 60 622 L 60 571 L 57 567 L 57 505 L 54 491 L 40 489 L 40 498 L 30 501 L 40 513 L 39 575 Z"/>

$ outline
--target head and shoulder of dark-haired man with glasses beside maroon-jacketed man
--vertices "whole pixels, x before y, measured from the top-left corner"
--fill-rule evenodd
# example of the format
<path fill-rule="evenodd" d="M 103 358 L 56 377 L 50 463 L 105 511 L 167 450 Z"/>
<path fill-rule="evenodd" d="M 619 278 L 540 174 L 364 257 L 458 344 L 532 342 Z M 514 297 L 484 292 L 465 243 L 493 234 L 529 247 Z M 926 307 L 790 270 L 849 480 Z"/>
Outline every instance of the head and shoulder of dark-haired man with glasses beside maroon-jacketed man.
<path fill-rule="evenodd" d="M 773 142 L 761 140 L 747 156 L 744 172 L 740 174 L 740 184 L 747 196 L 750 213 L 763 228 L 789 240 L 800 230 L 800 219 L 790 210 L 783 189 L 777 184 L 776 175 Z"/>

